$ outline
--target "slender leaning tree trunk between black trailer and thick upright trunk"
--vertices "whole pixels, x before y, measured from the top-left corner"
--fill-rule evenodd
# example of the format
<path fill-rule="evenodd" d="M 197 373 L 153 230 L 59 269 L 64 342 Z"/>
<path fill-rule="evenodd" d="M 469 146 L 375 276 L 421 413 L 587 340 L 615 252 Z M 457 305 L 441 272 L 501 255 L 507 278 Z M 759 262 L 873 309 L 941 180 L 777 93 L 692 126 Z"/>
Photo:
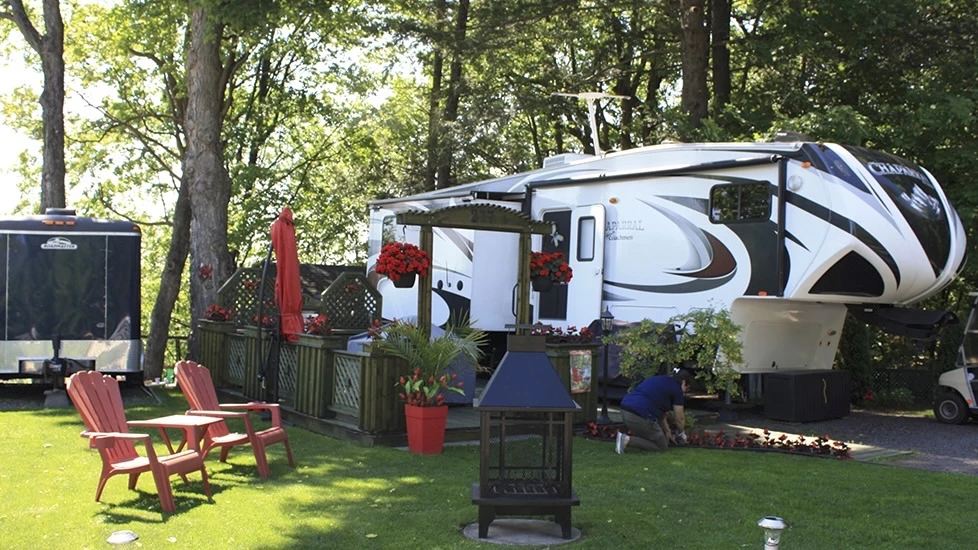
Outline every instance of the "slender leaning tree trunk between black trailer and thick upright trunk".
<path fill-rule="evenodd" d="M 160 293 L 156 296 L 156 304 L 153 305 L 153 313 L 149 318 L 149 337 L 146 338 L 146 353 L 143 357 L 143 375 L 149 380 L 163 373 L 173 304 L 180 294 L 180 278 L 183 276 L 190 250 L 190 217 L 190 193 L 187 178 L 183 178 L 180 181 L 177 204 L 173 209 L 173 232 L 170 234 L 166 265 L 160 275 Z"/>

